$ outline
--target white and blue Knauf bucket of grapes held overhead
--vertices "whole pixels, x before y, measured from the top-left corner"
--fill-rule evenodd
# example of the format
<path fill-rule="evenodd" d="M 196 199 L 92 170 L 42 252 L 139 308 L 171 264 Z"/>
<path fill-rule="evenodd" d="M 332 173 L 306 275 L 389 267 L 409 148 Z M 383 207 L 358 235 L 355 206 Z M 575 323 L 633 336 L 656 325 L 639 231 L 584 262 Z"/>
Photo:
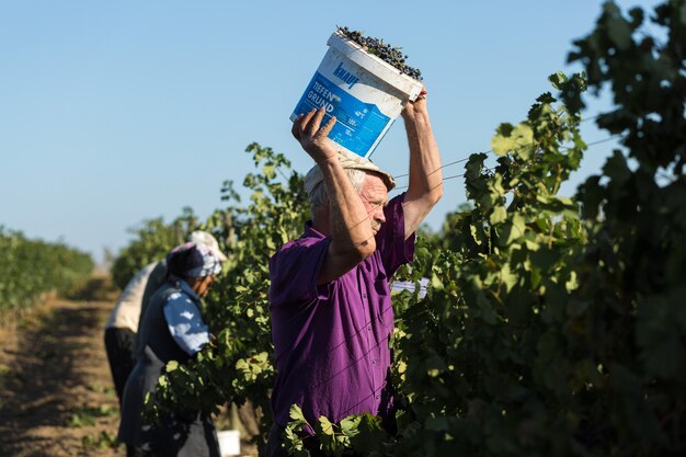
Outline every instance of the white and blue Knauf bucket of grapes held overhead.
<path fill-rule="evenodd" d="M 325 106 L 323 122 L 336 117 L 329 138 L 345 152 L 369 158 L 422 83 L 338 32 L 327 44 L 329 50 L 290 121 Z"/>

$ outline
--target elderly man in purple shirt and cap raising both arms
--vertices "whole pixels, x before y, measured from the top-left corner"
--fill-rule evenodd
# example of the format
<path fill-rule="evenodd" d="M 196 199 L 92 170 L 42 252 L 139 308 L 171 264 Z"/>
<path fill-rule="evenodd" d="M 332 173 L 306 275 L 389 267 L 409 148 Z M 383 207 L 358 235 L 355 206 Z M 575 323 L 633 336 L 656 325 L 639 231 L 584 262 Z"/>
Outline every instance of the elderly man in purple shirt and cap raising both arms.
<path fill-rule="evenodd" d="M 390 202 L 390 174 L 343 157 L 324 111 L 299 116 L 293 134 L 317 162 L 305 180 L 312 220 L 270 261 L 276 382 L 267 455 L 285 455 L 291 404 L 310 423 L 369 412 L 391 419 L 387 389 L 393 310 L 389 278 L 414 254 L 414 231 L 443 194 L 441 158 L 425 92 L 402 112 L 410 147 L 408 191 Z"/>

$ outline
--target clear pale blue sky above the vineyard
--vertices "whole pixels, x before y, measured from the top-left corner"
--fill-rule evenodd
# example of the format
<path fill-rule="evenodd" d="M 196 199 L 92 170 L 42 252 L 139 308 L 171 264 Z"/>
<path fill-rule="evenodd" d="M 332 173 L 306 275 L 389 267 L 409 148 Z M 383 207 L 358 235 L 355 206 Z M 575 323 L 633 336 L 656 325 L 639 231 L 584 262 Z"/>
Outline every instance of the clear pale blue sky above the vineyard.
<path fill-rule="evenodd" d="M 498 124 L 522 121 L 550 90 L 548 75 L 574 70 L 567 54 L 601 4 L 0 0 L 0 225 L 101 260 L 144 219 L 222 207 L 221 183 L 240 188 L 252 171 L 252 141 L 307 171 L 288 116 L 336 25 L 402 46 L 422 69 L 444 162 L 488 150 Z M 584 134 L 607 136 L 592 123 Z M 610 148 L 592 148 L 565 192 Z M 401 121 L 373 159 L 407 173 Z M 462 202 L 464 181 L 446 181 L 427 222 L 438 228 Z"/>

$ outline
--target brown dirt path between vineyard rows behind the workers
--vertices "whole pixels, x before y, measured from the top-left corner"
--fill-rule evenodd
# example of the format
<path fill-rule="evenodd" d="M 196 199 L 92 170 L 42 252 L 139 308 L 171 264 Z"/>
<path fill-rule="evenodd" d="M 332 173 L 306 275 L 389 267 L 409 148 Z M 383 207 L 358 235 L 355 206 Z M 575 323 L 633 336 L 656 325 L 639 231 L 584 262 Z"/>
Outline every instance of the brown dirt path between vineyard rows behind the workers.
<path fill-rule="evenodd" d="M 49 300 L 0 328 L 0 457 L 124 456 L 104 351 L 113 301 Z"/>

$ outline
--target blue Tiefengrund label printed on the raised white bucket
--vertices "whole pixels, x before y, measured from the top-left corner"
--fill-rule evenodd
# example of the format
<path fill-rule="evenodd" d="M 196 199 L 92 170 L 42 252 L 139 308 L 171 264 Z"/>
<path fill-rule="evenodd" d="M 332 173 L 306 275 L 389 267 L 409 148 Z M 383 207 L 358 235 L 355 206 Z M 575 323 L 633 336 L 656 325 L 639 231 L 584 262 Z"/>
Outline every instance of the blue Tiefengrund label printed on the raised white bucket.
<path fill-rule="evenodd" d="M 381 113 L 375 104 L 363 103 L 317 71 L 298 102 L 291 121 L 322 106 L 327 108 L 322 124 L 330 116 L 336 118 L 329 138 L 362 157 L 370 152 L 390 122 L 390 117 Z"/>

